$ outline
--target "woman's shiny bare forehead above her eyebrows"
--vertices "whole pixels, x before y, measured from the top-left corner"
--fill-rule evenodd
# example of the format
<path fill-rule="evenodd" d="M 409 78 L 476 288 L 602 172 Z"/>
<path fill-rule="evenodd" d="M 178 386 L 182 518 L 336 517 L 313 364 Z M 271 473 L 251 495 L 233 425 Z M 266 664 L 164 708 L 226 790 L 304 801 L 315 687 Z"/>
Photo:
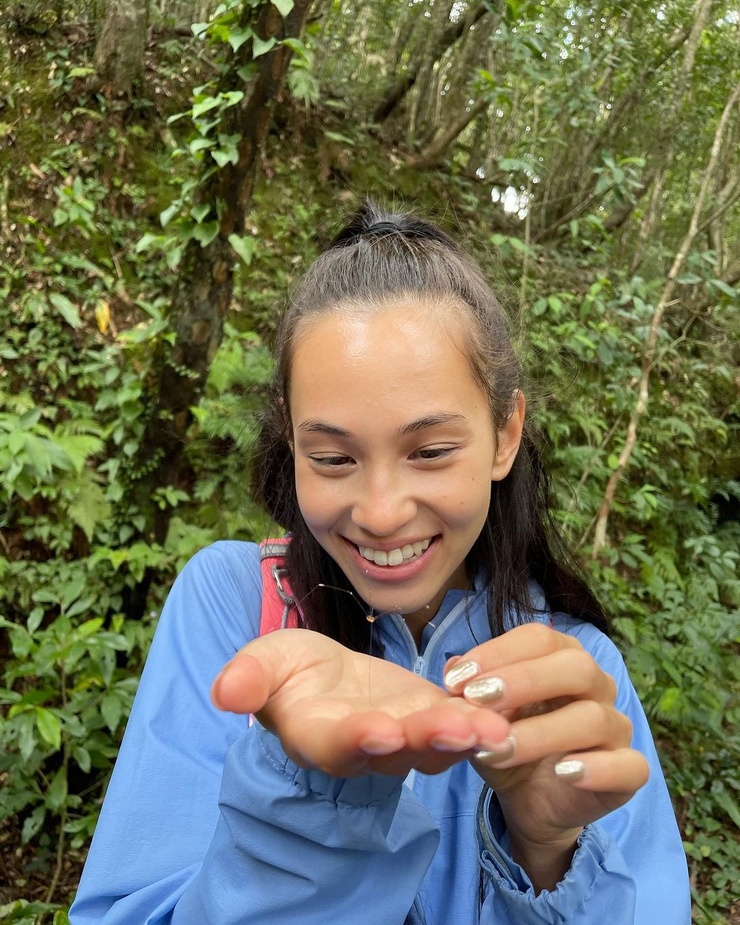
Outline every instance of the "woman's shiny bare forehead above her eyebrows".
<path fill-rule="evenodd" d="M 350 405 L 394 417 L 406 408 L 417 413 L 485 405 L 466 344 L 465 314 L 458 306 L 409 300 L 342 307 L 307 320 L 291 363 L 294 423 L 302 415 L 335 418 Z"/>

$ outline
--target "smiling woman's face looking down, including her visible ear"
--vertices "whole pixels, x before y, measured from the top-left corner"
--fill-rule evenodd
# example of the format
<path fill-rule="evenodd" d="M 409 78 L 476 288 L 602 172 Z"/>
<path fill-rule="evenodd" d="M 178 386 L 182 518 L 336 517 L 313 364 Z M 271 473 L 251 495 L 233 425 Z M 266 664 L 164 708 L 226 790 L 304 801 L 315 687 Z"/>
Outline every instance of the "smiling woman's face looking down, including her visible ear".
<path fill-rule="evenodd" d="M 521 436 L 499 433 L 463 351 L 462 310 L 419 300 L 319 316 L 299 333 L 290 411 L 298 503 L 359 596 L 417 635 L 450 588 Z"/>

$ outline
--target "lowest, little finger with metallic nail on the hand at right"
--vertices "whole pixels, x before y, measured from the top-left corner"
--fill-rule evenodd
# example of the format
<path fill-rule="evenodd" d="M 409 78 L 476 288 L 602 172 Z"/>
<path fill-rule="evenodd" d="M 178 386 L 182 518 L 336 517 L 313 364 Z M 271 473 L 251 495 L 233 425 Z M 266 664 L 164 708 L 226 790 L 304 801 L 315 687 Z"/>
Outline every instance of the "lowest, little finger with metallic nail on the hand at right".
<path fill-rule="evenodd" d="M 555 765 L 555 774 L 578 790 L 600 794 L 608 811 L 622 806 L 650 776 L 647 759 L 633 748 L 569 753 Z"/>

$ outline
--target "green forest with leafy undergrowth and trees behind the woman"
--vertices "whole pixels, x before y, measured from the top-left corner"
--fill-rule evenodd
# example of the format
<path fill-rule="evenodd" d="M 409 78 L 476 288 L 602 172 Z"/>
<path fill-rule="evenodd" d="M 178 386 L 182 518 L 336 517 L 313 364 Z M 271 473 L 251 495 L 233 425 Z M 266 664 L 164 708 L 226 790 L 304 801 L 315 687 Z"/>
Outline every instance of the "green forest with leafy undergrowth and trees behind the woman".
<path fill-rule="evenodd" d="M 364 196 L 511 312 L 558 520 L 738 922 L 737 0 L 4 0 L 0 921 L 67 921 L 162 600 L 270 525 L 276 310 Z"/>

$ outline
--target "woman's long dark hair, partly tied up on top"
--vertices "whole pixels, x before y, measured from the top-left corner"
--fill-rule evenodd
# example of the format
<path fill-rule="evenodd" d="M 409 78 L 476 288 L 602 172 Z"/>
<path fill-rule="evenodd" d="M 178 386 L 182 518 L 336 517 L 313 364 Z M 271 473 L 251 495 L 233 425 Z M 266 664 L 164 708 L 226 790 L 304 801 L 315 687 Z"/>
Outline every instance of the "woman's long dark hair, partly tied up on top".
<path fill-rule="evenodd" d="M 276 369 L 252 477 L 259 501 L 293 535 L 286 568 L 304 624 L 358 651 L 368 651 L 370 624 L 342 570 L 318 544 L 298 507 L 290 448 L 290 376 L 295 339 L 307 319 L 372 311 L 390 298 L 422 296 L 467 313 L 468 359 L 488 396 L 496 431 L 514 410 L 522 370 L 504 312 L 477 264 L 442 230 L 367 202 L 298 283 L 275 343 Z M 601 629 L 606 617 L 567 554 L 550 515 L 549 480 L 538 437 L 526 422 L 509 474 L 492 485 L 486 523 L 466 559 L 488 586 L 491 632 L 526 622 L 536 612 L 530 580 L 548 605 Z M 354 603 L 348 595 L 355 596 Z"/>

